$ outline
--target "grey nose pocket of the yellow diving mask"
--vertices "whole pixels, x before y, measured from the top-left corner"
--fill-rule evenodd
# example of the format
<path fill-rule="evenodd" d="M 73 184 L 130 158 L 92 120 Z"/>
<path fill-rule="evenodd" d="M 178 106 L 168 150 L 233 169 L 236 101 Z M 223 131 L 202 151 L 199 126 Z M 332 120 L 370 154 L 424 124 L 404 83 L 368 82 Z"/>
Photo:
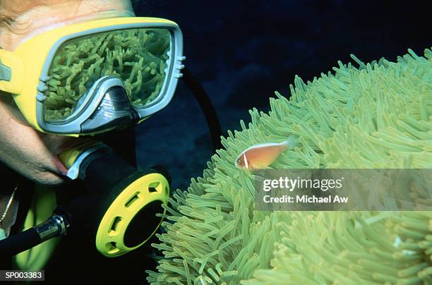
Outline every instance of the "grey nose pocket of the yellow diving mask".
<path fill-rule="evenodd" d="M 120 78 L 111 75 L 102 78 L 95 95 L 101 98 L 100 103 L 81 124 L 82 133 L 109 131 L 135 123 L 138 119 Z"/>

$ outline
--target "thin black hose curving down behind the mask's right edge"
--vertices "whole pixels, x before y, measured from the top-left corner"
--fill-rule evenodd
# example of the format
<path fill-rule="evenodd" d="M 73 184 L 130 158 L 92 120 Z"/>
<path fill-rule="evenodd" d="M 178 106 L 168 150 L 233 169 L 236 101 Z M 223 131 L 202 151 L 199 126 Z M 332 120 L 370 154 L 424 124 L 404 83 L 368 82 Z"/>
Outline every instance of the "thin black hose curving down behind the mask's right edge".
<path fill-rule="evenodd" d="M 184 68 L 181 73 L 183 73 L 183 82 L 186 84 L 189 90 L 191 90 L 193 97 L 195 97 L 198 104 L 200 104 L 203 110 L 205 120 L 207 121 L 208 128 L 210 129 L 210 135 L 212 136 L 212 143 L 215 150 L 222 148 L 222 143 L 220 142 L 220 137 L 222 136 L 222 128 L 220 127 L 220 121 L 217 118 L 215 107 L 213 107 L 207 92 L 205 92 L 203 86 L 200 82 L 192 75 L 188 68 Z"/>

